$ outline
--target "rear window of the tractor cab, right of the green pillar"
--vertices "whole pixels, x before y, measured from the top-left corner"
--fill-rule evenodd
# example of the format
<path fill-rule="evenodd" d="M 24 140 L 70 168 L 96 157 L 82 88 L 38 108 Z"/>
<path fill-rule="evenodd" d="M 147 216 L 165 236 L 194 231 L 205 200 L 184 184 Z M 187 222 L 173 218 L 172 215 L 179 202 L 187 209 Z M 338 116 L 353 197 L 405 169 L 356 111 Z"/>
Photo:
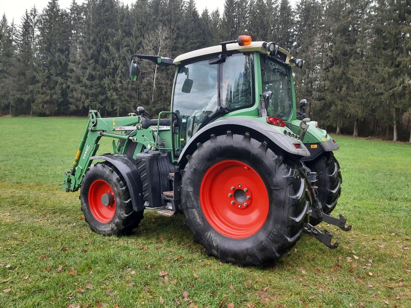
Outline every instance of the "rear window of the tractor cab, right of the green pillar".
<path fill-rule="evenodd" d="M 292 114 L 291 80 L 288 68 L 270 59 L 261 56 L 261 79 L 263 80 L 263 93 L 272 91 L 267 109 L 269 117 L 288 120 Z"/>

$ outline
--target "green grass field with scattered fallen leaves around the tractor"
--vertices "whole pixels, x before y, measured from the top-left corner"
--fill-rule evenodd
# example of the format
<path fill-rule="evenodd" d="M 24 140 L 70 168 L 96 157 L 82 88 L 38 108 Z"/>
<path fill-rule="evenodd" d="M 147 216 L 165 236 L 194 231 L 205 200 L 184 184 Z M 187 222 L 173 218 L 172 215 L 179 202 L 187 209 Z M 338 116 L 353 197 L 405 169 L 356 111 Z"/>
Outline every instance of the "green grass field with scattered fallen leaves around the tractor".
<path fill-rule="evenodd" d="M 0 307 L 411 306 L 409 144 L 337 136 L 334 214 L 353 225 L 327 227 L 340 247 L 303 235 L 270 267 L 238 267 L 208 257 L 182 216 L 146 211 L 128 237 L 91 232 L 79 192 L 60 189 L 85 125 L 0 118 Z"/>

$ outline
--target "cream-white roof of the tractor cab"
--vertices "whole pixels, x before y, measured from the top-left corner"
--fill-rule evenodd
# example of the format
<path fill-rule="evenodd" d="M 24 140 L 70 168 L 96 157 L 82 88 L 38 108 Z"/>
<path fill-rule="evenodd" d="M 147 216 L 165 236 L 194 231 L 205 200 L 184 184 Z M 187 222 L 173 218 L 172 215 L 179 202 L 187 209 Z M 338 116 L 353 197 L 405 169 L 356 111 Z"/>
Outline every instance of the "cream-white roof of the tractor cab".
<path fill-rule="evenodd" d="M 241 52 L 259 51 L 260 53 L 269 54 L 269 51 L 265 48 L 266 44 L 267 44 L 266 42 L 260 41 L 260 42 L 251 42 L 251 44 L 247 46 L 239 46 L 237 43 L 227 44 L 226 46 L 227 46 L 227 51 L 234 51 L 234 50 L 238 50 Z M 288 51 L 286 51 L 285 49 L 281 47 L 278 48 L 278 51 L 285 55 L 284 56 L 285 61 L 283 62 L 285 62 L 286 64 L 290 66 L 294 66 L 294 63 L 290 62 L 291 54 Z M 180 54 L 179 56 L 176 57 L 176 59 L 174 59 L 173 64 L 180 64 L 181 62 L 195 60 L 197 58 L 207 56 L 207 55 L 217 55 L 221 52 L 222 52 L 221 45 L 197 49 L 197 50 L 193 50 L 190 52 Z"/>

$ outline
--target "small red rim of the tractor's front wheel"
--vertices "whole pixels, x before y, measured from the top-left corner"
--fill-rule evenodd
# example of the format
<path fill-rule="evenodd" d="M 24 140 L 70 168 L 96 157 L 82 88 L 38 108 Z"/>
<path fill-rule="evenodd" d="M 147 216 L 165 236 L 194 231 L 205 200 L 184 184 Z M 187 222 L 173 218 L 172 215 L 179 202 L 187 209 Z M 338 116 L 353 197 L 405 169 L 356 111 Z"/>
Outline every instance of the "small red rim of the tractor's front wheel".
<path fill-rule="evenodd" d="M 106 181 L 96 180 L 91 183 L 88 189 L 88 205 L 91 214 L 98 221 L 106 223 L 113 219 L 116 213 L 116 196 Z"/>

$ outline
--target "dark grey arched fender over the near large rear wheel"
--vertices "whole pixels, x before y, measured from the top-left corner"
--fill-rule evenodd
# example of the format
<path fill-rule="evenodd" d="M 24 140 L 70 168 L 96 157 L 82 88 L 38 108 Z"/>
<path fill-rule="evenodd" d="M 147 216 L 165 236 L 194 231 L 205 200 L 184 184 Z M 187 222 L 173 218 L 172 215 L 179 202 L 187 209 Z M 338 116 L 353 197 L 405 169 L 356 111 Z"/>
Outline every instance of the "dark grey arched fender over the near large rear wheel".
<path fill-rule="evenodd" d="M 227 130 L 242 133 L 255 131 L 291 155 L 310 156 L 310 152 L 301 141 L 296 141 L 284 136 L 283 133 L 277 131 L 276 127 L 271 127 L 270 125 L 261 127 L 261 122 L 250 118 L 229 117 L 214 121 L 201 128 L 184 147 L 179 156 L 178 164 L 184 165 L 186 163 L 186 156 L 195 151 L 197 143 L 203 143 L 209 140 L 211 133 L 225 133 Z M 295 143 L 300 143 L 300 148 L 295 148 Z"/>

